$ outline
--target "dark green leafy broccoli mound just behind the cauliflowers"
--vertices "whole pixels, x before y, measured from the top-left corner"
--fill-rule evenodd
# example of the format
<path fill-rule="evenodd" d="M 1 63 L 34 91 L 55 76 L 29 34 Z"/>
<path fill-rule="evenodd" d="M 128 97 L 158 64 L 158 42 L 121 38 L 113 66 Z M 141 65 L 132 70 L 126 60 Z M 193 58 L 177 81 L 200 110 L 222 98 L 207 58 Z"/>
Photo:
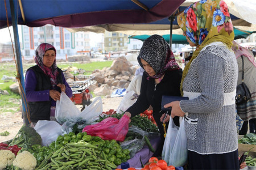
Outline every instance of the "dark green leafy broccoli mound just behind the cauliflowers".
<path fill-rule="evenodd" d="M 29 149 L 32 145 L 35 144 L 42 145 L 41 136 L 36 132 L 34 128 L 23 125 L 9 146 L 18 145 L 19 147 Z"/>

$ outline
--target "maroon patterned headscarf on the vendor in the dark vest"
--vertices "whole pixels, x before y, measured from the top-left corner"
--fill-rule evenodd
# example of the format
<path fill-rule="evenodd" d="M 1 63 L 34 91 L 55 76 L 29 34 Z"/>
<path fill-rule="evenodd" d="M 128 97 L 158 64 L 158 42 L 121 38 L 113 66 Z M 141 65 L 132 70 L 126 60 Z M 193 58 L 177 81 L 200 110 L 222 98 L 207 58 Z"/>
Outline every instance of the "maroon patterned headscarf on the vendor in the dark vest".
<path fill-rule="evenodd" d="M 57 65 L 56 65 L 56 58 L 54 59 L 54 62 L 51 67 L 46 67 L 43 65 L 43 57 L 44 54 L 46 53 L 47 50 L 54 50 L 55 51 L 55 57 L 56 57 L 56 49 L 54 48 L 53 45 L 48 44 L 48 43 L 42 43 L 36 48 L 36 57 L 35 57 L 35 62 L 36 64 L 44 71 L 44 74 L 48 75 L 52 86 L 56 85 L 56 80 L 57 80 Z"/>

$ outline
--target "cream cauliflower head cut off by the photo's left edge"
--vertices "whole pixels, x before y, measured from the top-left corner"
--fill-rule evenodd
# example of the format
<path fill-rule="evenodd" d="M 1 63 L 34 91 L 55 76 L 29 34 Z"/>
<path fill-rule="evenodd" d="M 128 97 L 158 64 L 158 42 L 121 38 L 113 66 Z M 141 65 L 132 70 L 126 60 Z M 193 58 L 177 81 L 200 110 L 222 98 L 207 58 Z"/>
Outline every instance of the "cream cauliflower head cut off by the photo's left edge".
<path fill-rule="evenodd" d="M 15 155 L 10 150 L 0 150 L 0 169 L 5 169 L 7 165 L 11 165 Z"/>

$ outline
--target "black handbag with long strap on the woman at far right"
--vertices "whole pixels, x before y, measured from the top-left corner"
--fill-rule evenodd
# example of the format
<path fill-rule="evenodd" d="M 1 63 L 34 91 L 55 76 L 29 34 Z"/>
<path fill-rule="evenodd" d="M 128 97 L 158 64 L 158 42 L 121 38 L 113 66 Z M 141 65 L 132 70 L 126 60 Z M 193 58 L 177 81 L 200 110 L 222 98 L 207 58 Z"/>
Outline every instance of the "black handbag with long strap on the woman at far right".
<path fill-rule="evenodd" d="M 242 63 L 243 63 L 243 56 L 242 58 Z M 243 69 L 243 65 L 242 65 Z M 242 72 L 242 83 L 237 86 L 237 95 L 236 95 L 236 104 L 240 105 L 242 103 L 245 103 L 246 101 L 251 99 L 251 93 L 246 86 L 246 84 L 243 82 L 243 72 Z"/>

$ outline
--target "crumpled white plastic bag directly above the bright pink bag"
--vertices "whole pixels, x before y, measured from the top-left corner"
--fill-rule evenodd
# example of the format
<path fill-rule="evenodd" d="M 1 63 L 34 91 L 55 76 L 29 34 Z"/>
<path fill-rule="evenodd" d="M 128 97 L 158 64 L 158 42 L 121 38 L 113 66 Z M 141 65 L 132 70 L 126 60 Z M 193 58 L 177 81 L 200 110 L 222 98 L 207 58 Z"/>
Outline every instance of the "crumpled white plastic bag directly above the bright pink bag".
<path fill-rule="evenodd" d="M 93 122 L 93 117 L 99 116 L 102 113 L 101 97 L 96 97 L 92 103 L 85 106 L 84 110 L 79 114 L 77 120 L 85 120 L 85 124 L 89 125 Z"/>

